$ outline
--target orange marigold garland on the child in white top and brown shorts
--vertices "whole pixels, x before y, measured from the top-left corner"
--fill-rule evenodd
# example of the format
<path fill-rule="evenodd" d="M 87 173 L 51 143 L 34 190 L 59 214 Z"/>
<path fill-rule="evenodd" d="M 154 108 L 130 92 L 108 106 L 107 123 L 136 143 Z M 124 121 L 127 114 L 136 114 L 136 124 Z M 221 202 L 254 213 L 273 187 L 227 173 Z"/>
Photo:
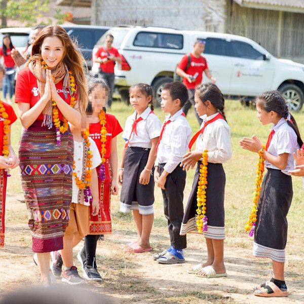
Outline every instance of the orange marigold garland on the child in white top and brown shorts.
<path fill-rule="evenodd" d="M 92 157 L 93 153 L 92 150 L 90 149 L 90 141 L 89 141 L 89 130 L 86 130 L 86 132 L 83 134 L 83 138 L 85 140 L 86 146 L 88 147 L 88 155 L 87 155 L 87 163 L 86 163 L 86 174 L 84 177 L 84 180 L 81 180 L 78 176 L 77 173 L 75 172 L 75 161 L 73 161 L 73 176 L 75 177 L 75 181 L 77 186 L 84 190 L 84 195 L 85 195 L 85 202 L 88 203 L 92 200 L 92 194 L 91 194 L 91 179 L 92 179 Z"/>

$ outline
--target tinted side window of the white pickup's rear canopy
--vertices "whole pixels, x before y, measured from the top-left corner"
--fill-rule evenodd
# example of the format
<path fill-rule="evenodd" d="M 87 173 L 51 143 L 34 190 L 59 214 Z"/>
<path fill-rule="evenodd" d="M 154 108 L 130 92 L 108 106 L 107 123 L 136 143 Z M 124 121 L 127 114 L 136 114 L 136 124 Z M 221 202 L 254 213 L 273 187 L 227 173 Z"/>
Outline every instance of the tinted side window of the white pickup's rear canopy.
<path fill-rule="evenodd" d="M 181 50 L 183 48 L 183 35 L 139 32 L 133 45 L 136 47 Z"/>

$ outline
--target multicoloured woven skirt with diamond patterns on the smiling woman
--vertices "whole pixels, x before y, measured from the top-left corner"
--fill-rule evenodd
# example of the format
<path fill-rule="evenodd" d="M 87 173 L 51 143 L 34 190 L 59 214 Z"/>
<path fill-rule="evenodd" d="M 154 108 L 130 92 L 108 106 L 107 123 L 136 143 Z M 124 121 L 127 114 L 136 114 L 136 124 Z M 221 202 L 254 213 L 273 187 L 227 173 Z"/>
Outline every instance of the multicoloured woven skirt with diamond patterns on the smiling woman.
<path fill-rule="evenodd" d="M 56 144 L 55 128 L 40 121 L 25 130 L 19 141 L 21 182 L 32 235 L 33 252 L 63 248 L 72 198 L 74 143 L 70 130 Z"/>

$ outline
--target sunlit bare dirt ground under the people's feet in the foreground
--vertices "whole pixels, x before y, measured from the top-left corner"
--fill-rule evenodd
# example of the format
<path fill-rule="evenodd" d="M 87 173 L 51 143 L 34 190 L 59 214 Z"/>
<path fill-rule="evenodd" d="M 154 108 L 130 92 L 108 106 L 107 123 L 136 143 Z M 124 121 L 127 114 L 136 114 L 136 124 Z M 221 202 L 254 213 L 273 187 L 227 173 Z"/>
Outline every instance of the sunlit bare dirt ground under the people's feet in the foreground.
<path fill-rule="evenodd" d="M 0 249 L 0 294 L 16 290 L 16 285 L 25 287 L 39 283 L 39 271 L 32 260 L 26 207 L 17 198 L 7 197 L 6 246 Z M 252 238 L 227 239 L 225 265 L 228 276 L 203 279 L 186 272 L 207 257 L 205 243 L 198 242 L 198 236 L 188 237 L 184 264 L 161 265 L 153 260 L 153 254 L 168 247 L 168 237 L 163 231 L 164 227 L 155 225 L 151 235 L 152 253 L 128 254 L 121 246 L 136 236 L 126 224 L 121 224 L 121 229 L 98 243 L 97 265 L 103 282 L 86 283 L 80 288 L 107 294 L 115 303 L 304 303 L 303 259 L 298 255 L 287 255 L 286 283 L 290 295 L 287 298 L 260 298 L 253 295 L 252 287 L 267 281 L 272 268 L 270 260 L 252 256 Z M 82 245 L 83 242 L 75 248 L 75 257 Z M 80 269 L 76 258 L 75 264 Z"/>

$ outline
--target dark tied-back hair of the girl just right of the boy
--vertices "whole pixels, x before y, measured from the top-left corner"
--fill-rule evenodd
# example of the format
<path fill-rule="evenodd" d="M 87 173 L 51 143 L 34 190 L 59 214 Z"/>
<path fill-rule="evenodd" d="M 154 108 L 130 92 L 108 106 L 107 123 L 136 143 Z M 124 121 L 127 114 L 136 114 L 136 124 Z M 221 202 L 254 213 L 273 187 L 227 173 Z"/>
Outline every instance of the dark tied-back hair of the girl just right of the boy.
<path fill-rule="evenodd" d="M 224 112 L 225 99 L 222 92 L 215 84 L 209 82 L 199 85 L 195 88 L 195 92 L 199 95 L 199 98 L 204 104 L 209 100 L 215 109 L 221 113 L 224 120 L 227 121 Z"/>

